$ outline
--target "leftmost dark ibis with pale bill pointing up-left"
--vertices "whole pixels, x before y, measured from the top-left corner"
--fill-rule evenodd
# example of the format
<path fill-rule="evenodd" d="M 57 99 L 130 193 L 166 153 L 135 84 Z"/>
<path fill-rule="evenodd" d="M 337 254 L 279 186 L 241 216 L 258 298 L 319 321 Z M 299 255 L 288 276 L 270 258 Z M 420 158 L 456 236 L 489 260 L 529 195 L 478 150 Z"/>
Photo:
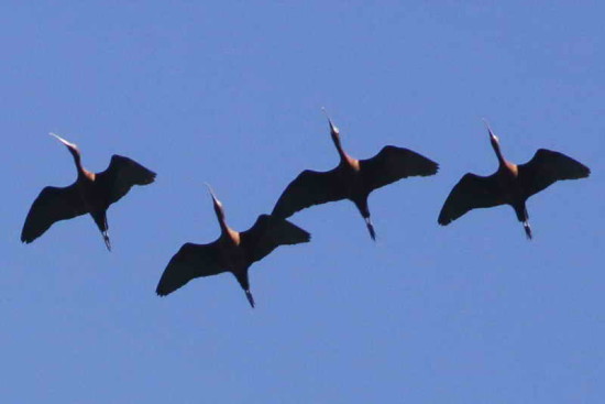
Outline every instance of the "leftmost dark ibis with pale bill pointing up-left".
<path fill-rule="evenodd" d="M 78 146 L 51 133 L 67 146 L 74 157 L 78 178 L 67 187 L 47 186 L 34 200 L 23 230 L 21 241 L 30 243 L 42 236 L 53 223 L 84 214 L 90 214 L 101 231 L 107 249 L 111 251 L 107 209 L 120 200 L 133 185 L 153 183 L 155 173 L 135 161 L 114 154 L 106 171 L 91 173 L 81 165 Z"/>

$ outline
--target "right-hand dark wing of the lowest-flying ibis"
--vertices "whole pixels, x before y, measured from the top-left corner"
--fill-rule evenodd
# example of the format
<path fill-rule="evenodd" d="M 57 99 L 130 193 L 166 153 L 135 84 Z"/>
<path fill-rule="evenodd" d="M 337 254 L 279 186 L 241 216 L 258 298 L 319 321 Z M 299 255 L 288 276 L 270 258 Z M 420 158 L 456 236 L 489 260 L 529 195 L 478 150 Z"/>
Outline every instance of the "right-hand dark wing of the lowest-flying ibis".
<path fill-rule="evenodd" d="M 250 262 L 260 261 L 279 245 L 308 242 L 311 236 L 285 219 L 261 215 L 254 226 L 240 233 Z"/>

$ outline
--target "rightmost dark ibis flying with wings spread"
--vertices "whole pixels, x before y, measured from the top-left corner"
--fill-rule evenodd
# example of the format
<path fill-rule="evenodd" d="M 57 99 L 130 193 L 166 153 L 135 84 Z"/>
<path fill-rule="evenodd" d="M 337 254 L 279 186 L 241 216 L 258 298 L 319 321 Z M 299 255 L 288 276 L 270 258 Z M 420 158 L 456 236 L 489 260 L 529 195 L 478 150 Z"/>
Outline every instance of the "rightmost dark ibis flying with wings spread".
<path fill-rule="evenodd" d="M 492 132 L 487 121 L 485 125 L 498 159 L 498 170 L 487 177 L 465 174 L 446 199 L 438 222 L 446 226 L 475 208 L 510 205 L 517 219 L 522 222 L 527 238 L 531 239 L 527 199 L 559 179 L 584 178 L 591 171 L 562 153 L 546 149 L 539 149 L 525 164 L 510 163 L 504 159 L 499 140 Z"/>

